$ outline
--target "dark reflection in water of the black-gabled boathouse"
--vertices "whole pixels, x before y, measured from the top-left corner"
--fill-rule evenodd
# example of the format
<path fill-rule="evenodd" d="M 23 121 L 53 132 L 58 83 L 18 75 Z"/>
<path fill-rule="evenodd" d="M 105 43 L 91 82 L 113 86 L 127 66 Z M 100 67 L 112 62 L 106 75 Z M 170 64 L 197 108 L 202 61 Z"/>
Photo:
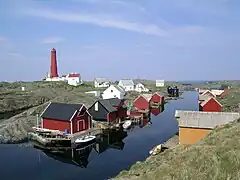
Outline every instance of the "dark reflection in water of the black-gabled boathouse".
<path fill-rule="evenodd" d="M 127 132 L 120 129 L 118 131 L 111 131 L 107 134 L 102 134 L 94 146 L 94 149 L 97 153 L 102 153 L 108 148 L 123 150 L 124 142 L 123 139 L 127 137 Z"/>

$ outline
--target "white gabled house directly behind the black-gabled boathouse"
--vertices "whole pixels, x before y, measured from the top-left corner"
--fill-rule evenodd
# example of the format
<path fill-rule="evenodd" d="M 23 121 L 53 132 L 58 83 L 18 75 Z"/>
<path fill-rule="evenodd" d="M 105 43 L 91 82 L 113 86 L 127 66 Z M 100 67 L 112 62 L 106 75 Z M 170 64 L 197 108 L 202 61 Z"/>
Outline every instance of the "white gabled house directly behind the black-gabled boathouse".
<path fill-rule="evenodd" d="M 110 85 L 105 91 L 102 93 L 103 99 L 111 99 L 111 98 L 118 98 L 123 99 L 126 92 L 123 88 L 119 87 L 118 85 Z"/>

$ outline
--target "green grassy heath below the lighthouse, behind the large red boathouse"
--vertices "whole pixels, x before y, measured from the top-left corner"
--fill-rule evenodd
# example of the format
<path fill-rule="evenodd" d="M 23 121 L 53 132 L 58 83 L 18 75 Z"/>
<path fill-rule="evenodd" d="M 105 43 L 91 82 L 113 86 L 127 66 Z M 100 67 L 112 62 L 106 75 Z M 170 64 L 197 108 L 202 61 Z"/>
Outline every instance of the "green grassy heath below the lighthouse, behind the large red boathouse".
<path fill-rule="evenodd" d="M 25 91 L 21 91 L 25 87 Z M 78 87 L 64 82 L 15 82 L 0 83 L 0 113 L 16 111 L 41 105 L 48 101 L 65 103 L 84 103 L 91 105 L 95 97 L 85 94 L 96 90 L 93 83 L 85 83 Z"/>

